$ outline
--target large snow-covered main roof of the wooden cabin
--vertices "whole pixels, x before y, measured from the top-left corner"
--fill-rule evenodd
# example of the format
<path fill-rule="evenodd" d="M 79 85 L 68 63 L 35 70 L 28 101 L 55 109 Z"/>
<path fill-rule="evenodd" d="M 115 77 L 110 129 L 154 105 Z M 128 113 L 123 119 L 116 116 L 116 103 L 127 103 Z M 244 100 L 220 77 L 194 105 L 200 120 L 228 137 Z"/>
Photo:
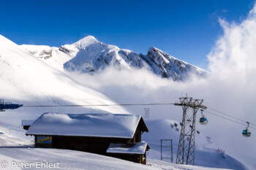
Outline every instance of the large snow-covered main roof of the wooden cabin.
<path fill-rule="evenodd" d="M 142 123 L 140 115 L 44 113 L 29 127 L 26 135 L 96 136 L 132 139 Z"/>

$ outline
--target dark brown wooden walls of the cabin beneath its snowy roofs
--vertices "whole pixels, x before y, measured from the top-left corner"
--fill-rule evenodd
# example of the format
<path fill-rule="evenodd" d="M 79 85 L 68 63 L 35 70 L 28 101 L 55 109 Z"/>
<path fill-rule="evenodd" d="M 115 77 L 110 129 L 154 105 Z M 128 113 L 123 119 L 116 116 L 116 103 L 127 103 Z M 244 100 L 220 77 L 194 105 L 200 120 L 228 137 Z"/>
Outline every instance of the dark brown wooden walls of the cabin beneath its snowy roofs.
<path fill-rule="evenodd" d="M 106 152 L 110 143 L 127 143 L 131 142 L 131 140 L 135 142 L 140 142 L 140 136 L 140 131 L 136 131 L 133 139 L 97 138 L 81 136 L 50 136 L 50 144 L 38 143 L 38 136 L 35 136 L 35 147 L 52 147 L 67 150 L 80 150 L 85 152 L 97 153 L 100 155 L 108 155 L 114 158 L 120 158 L 135 163 L 146 164 L 146 152 L 143 155 Z"/>

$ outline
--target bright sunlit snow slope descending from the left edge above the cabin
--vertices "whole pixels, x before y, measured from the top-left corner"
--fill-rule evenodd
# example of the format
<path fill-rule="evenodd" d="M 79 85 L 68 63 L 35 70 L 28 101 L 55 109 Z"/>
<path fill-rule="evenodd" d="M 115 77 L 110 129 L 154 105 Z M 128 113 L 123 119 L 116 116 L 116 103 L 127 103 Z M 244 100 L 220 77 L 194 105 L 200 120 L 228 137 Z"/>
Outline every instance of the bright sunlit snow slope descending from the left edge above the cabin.
<path fill-rule="evenodd" d="M 72 80 L 0 35 L 1 98 L 44 104 L 53 96 L 75 104 L 115 104 L 102 93 Z M 80 99 L 80 101 L 75 101 Z M 41 101 L 41 102 L 40 102 Z M 66 103 L 67 104 L 67 103 Z M 126 113 L 122 107 L 93 107 L 102 112 Z M 92 112 L 91 109 L 87 109 Z M 42 114 L 42 112 L 41 112 Z"/>

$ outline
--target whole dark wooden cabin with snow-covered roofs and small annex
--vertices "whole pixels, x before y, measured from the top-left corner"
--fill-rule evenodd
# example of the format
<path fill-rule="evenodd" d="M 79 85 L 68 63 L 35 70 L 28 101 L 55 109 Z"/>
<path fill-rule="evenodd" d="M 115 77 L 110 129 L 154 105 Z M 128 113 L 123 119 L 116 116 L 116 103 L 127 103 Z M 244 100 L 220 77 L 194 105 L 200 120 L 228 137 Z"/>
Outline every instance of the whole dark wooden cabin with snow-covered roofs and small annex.
<path fill-rule="evenodd" d="M 29 126 L 35 147 L 50 147 L 108 155 L 146 164 L 141 141 L 148 128 L 140 115 L 45 113 Z"/>

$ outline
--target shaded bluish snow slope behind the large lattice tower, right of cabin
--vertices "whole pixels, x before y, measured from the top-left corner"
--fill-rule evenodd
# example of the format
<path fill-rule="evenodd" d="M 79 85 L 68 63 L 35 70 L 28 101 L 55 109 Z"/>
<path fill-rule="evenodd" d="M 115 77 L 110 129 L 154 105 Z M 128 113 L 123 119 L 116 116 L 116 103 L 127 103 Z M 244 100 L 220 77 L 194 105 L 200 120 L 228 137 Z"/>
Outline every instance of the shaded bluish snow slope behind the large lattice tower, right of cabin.
<path fill-rule="evenodd" d="M 170 126 L 178 124 L 177 128 Z M 176 162 L 176 153 L 178 150 L 178 140 L 181 130 L 181 125 L 173 120 L 146 120 L 149 133 L 142 136 L 143 141 L 148 142 L 151 147 L 149 150 L 148 158 L 157 159 L 161 158 L 161 144 L 160 139 L 173 139 L 173 162 Z M 237 161 L 235 158 L 230 157 L 228 154 L 218 151 L 217 144 L 210 138 L 204 136 L 202 133 L 195 136 L 195 165 L 206 166 L 223 169 L 237 169 L 246 170 L 246 166 Z M 164 146 L 170 145 L 170 142 L 163 142 Z M 165 152 L 162 152 L 163 157 L 170 158 L 170 147 L 164 147 Z M 169 150 L 166 152 L 166 150 Z M 225 158 L 224 158 L 224 157 Z M 164 159 L 170 163 L 170 159 Z"/>

